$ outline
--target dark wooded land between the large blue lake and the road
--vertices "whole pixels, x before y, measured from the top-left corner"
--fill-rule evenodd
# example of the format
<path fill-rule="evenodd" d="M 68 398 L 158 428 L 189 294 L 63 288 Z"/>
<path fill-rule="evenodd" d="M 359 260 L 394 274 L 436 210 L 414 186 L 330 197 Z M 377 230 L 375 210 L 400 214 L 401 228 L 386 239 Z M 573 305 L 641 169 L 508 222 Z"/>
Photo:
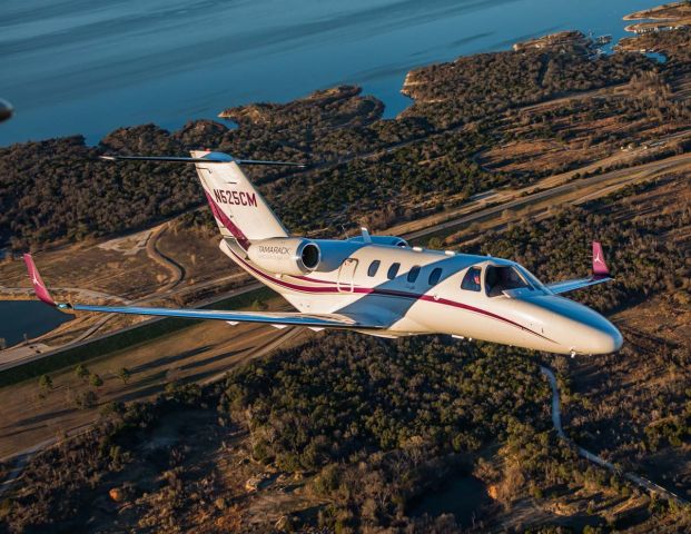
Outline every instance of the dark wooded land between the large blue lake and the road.
<path fill-rule="evenodd" d="M 340 87 L 287 105 L 225 110 L 235 126 L 200 120 L 168 132 L 147 125 L 116 130 L 92 148 L 79 137 L 1 148 L 0 246 L 20 250 L 134 230 L 201 204 L 193 169 L 96 159 L 106 152 L 179 155 L 211 148 L 306 162 L 316 168 L 267 190 L 288 226 L 318 229 L 316 212 L 330 226 L 376 214 L 372 222 L 384 226 L 419 215 L 406 207 L 392 211 L 392 202 L 427 202 L 427 209 L 436 209 L 442 201 L 428 198 L 431 192 L 468 196 L 515 182 L 516 176 L 483 174 L 473 159 L 488 145 L 487 135 L 496 138 L 502 112 L 660 68 L 638 53 L 592 60 L 582 46 L 495 52 L 412 72 L 405 90 L 416 102 L 392 120 L 381 118 L 383 106 L 375 98 Z M 470 130 L 455 130 L 472 121 L 478 122 Z M 388 154 L 391 148 L 396 150 Z M 358 155 L 369 157 L 353 159 Z M 292 176 L 286 169 L 249 172 L 258 182 Z"/>

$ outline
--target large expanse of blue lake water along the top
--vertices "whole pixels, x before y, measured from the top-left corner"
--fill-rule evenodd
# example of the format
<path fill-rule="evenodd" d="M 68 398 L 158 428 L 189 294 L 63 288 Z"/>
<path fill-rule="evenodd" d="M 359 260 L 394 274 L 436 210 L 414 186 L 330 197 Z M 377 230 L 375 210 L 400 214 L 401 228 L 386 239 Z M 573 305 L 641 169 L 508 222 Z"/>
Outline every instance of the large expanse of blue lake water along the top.
<path fill-rule="evenodd" d="M 564 29 L 623 36 L 659 0 L 3 0 L 0 146 L 358 83 L 394 117 L 413 67 Z"/>

